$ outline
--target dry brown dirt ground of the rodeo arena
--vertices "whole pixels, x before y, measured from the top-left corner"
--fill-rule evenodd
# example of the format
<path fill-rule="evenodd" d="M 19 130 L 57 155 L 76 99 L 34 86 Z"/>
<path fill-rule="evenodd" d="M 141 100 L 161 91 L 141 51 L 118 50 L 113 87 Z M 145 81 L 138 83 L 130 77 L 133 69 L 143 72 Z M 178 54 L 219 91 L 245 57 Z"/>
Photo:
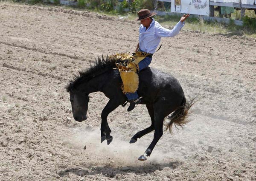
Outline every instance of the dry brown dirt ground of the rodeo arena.
<path fill-rule="evenodd" d="M 90 11 L 0 3 L 1 181 L 256 181 L 254 39 L 162 39 L 150 66 L 198 99 L 191 122 L 165 132 L 147 161 L 137 158 L 153 133 L 129 144 L 150 125 L 145 105 L 109 115 L 110 145 L 100 142 L 103 93 L 90 94 L 86 121 L 73 119 L 65 85 L 102 54 L 134 51 L 138 28 Z"/>

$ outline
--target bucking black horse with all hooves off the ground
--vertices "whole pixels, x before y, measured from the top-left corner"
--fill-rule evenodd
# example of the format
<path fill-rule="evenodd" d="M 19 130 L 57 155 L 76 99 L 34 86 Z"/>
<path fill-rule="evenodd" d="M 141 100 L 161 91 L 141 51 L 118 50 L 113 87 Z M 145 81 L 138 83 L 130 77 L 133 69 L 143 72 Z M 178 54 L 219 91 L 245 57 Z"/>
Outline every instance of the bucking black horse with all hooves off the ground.
<path fill-rule="evenodd" d="M 87 119 L 89 93 L 100 91 L 109 98 L 108 104 L 102 110 L 101 118 L 101 141 L 107 140 L 111 143 L 113 137 L 110 135 L 111 129 L 108 126 L 108 114 L 119 105 L 124 105 L 126 96 L 121 90 L 121 77 L 116 68 L 116 62 L 121 61 L 114 57 L 106 59 L 98 58 L 95 65 L 88 70 L 79 72 L 73 81 L 70 81 L 66 89 L 70 93 L 73 117 L 76 121 L 82 122 Z M 188 122 L 186 119 L 189 108 L 193 105 L 193 100 L 186 102 L 183 90 L 173 76 L 165 74 L 153 68 L 145 68 L 139 74 L 140 84 L 137 93 L 142 96 L 151 118 L 151 126 L 136 133 L 130 143 L 135 143 L 147 133 L 154 130 L 154 139 L 145 153 L 139 160 L 146 160 L 150 156 L 157 141 L 163 135 L 163 124 L 166 130 L 172 133 L 172 124 L 183 126 Z M 174 112 L 174 113 L 172 113 Z M 171 116 L 168 116 L 171 114 Z M 164 119 L 167 116 L 167 122 Z"/>

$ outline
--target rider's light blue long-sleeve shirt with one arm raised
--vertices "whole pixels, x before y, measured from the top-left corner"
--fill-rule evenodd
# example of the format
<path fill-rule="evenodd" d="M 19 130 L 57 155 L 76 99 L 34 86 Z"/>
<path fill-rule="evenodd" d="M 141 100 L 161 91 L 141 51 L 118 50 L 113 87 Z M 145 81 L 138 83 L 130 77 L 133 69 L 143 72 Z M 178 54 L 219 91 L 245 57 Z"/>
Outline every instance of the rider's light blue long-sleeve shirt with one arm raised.
<path fill-rule="evenodd" d="M 140 50 L 154 54 L 162 37 L 175 37 L 179 34 L 180 29 L 184 26 L 184 22 L 179 21 L 172 30 L 163 28 L 154 19 L 150 23 L 148 29 L 142 24 L 140 25 L 139 45 Z"/>

